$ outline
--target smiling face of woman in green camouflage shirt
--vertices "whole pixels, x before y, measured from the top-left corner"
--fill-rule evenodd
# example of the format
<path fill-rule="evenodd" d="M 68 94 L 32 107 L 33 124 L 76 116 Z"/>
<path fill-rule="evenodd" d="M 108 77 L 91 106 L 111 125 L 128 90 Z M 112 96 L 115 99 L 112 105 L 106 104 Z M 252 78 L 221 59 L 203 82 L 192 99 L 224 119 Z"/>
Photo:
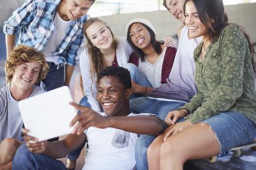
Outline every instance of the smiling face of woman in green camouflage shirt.
<path fill-rule="evenodd" d="M 207 29 L 205 25 L 199 19 L 196 7 L 193 1 L 188 1 L 186 3 L 186 25 L 188 26 L 189 36 L 191 38 L 201 37 L 205 39 L 207 35 Z"/>

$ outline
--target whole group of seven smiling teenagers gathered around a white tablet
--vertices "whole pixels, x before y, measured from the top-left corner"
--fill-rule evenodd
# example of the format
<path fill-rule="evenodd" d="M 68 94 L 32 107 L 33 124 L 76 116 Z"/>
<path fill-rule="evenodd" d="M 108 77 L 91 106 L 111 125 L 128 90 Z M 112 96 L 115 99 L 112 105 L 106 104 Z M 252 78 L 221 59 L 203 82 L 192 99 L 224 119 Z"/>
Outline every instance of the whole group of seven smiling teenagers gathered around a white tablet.
<path fill-rule="evenodd" d="M 5 21 L 11 85 L 0 90 L 0 169 L 75 169 L 86 141 L 83 169 L 183 169 L 254 140 L 256 53 L 222 0 L 163 1 L 183 24 L 178 49 L 170 37 L 157 41 L 145 19 L 114 37 L 88 18 L 93 3 L 27 0 Z M 79 123 L 61 141 L 38 142 L 18 101 L 69 86 L 78 62 L 84 97 L 70 103 L 70 126 Z M 58 160 L 67 155 L 66 165 Z"/>

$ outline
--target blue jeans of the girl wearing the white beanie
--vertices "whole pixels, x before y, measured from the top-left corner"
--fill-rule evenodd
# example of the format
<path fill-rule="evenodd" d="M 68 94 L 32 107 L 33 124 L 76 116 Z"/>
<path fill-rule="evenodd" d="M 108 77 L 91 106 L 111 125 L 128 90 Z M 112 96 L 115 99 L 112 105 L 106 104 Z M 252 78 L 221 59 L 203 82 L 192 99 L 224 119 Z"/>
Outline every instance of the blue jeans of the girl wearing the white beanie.
<path fill-rule="evenodd" d="M 148 81 L 148 79 L 145 77 L 145 75 L 139 70 L 139 68 L 136 65 L 134 65 L 132 63 L 126 63 L 122 67 L 129 70 L 129 72 L 131 74 L 131 79 L 136 84 L 139 84 L 140 86 L 146 86 L 146 87 L 153 88 L 151 83 Z M 138 97 L 142 97 L 142 96 L 143 95 L 141 95 L 141 94 L 132 94 L 130 99 L 134 99 L 134 98 L 138 98 Z"/>

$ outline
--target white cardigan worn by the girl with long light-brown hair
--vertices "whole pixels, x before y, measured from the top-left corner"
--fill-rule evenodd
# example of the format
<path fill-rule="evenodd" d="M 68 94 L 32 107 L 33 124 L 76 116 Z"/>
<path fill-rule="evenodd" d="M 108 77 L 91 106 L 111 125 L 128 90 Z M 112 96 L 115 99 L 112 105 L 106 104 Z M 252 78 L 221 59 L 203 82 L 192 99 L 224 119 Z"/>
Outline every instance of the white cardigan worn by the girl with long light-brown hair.
<path fill-rule="evenodd" d="M 129 57 L 133 53 L 133 50 L 131 46 L 126 41 L 126 37 L 120 37 L 118 38 L 118 45 L 116 49 L 116 59 L 118 66 L 122 66 L 129 62 Z M 84 86 L 84 96 L 88 98 L 88 103 L 91 105 L 91 108 L 93 111 L 100 111 L 100 104 L 97 101 L 97 86 L 96 86 L 96 80 L 97 76 L 93 75 L 93 84 L 91 79 L 91 73 L 90 73 L 91 65 L 90 65 L 90 59 L 87 53 L 87 48 L 83 50 L 83 52 L 80 55 L 80 70 L 83 80 L 83 86 Z M 91 91 L 91 85 L 92 85 L 92 91 Z"/>

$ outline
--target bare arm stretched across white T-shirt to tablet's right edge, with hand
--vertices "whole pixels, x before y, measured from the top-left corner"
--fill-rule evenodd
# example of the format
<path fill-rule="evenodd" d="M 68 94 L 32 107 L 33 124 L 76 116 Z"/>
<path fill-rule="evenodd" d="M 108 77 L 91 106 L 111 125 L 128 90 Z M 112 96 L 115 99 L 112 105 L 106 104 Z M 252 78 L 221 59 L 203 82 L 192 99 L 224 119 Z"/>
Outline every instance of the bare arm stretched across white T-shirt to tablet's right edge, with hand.
<path fill-rule="evenodd" d="M 155 116 L 101 116 L 99 113 L 94 112 L 89 107 L 70 103 L 70 105 L 77 108 L 82 113 L 76 115 L 70 126 L 79 121 L 76 128 L 72 132 L 81 134 L 85 129 L 90 126 L 96 128 L 116 128 L 127 132 L 138 134 L 158 134 L 162 129 L 161 120 Z M 81 130 L 79 130 L 82 128 Z M 79 131 L 78 131 L 79 130 Z"/>

